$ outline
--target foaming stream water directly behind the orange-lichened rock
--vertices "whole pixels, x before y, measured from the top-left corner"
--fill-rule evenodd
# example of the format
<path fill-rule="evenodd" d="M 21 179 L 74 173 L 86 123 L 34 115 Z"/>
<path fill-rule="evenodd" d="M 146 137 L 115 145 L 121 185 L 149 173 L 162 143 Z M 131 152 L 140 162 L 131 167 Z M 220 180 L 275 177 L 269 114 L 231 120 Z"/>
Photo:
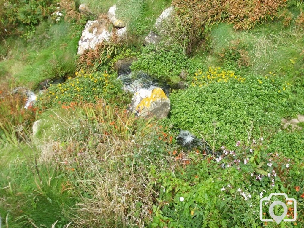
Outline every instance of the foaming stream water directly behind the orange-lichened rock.
<path fill-rule="evenodd" d="M 123 90 L 135 93 L 141 89 L 153 90 L 160 87 L 167 96 L 170 93 L 170 87 L 161 80 L 156 80 L 143 71 L 122 74 L 118 78 L 123 83 Z"/>

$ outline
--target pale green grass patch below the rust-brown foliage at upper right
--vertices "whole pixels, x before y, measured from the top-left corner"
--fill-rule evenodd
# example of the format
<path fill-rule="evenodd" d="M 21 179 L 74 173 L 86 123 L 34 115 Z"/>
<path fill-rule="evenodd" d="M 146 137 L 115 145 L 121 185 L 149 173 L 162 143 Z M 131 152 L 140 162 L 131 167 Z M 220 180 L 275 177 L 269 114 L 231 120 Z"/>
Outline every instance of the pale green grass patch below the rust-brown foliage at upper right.
<path fill-rule="evenodd" d="M 248 52 L 250 73 L 278 72 L 291 79 L 304 66 L 303 58 L 299 58 L 303 50 L 303 33 L 293 26 L 283 28 L 281 22 L 270 22 L 250 31 L 235 31 L 233 25 L 220 23 L 211 30 L 210 39 L 212 49 L 204 54 L 202 65 L 205 66 L 223 65 L 219 54 L 232 46 Z"/>

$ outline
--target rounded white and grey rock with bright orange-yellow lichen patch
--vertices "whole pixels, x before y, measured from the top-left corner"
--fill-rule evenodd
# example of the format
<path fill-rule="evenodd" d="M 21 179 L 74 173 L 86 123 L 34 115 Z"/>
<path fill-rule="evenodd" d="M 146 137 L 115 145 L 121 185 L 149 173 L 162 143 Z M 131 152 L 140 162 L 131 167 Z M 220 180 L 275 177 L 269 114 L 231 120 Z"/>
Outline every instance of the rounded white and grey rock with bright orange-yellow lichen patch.
<path fill-rule="evenodd" d="M 161 119 L 170 112 L 170 100 L 161 88 L 141 89 L 134 94 L 130 111 L 137 116 Z"/>

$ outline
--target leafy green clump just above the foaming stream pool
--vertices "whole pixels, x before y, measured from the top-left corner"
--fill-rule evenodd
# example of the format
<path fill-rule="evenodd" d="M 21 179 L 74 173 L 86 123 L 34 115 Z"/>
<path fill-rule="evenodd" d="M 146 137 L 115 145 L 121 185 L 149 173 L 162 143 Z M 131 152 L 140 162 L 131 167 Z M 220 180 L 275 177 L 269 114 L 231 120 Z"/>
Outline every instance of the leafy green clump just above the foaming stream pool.
<path fill-rule="evenodd" d="M 151 45 L 142 49 L 131 70 L 143 70 L 157 78 L 176 81 L 187 64 L 188 58 L 181 48 L 165 49 Z"/>

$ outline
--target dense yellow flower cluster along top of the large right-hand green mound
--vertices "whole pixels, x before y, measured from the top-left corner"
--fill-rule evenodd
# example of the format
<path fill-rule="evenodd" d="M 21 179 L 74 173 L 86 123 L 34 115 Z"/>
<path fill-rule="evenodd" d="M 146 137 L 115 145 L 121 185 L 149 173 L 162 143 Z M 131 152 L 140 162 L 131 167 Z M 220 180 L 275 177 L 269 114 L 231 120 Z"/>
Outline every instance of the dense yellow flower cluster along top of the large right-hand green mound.
<path fill-rule="evenodd" d="M 222 70 L 220 67 L 209 67 L 207 72 L 198 70 L 193 77 L 192 86 L 203 86 L 212 82 L 228 82 L 229 80 L 244 82 L 246 79 L 235 75 L 233 71 Z"/>

